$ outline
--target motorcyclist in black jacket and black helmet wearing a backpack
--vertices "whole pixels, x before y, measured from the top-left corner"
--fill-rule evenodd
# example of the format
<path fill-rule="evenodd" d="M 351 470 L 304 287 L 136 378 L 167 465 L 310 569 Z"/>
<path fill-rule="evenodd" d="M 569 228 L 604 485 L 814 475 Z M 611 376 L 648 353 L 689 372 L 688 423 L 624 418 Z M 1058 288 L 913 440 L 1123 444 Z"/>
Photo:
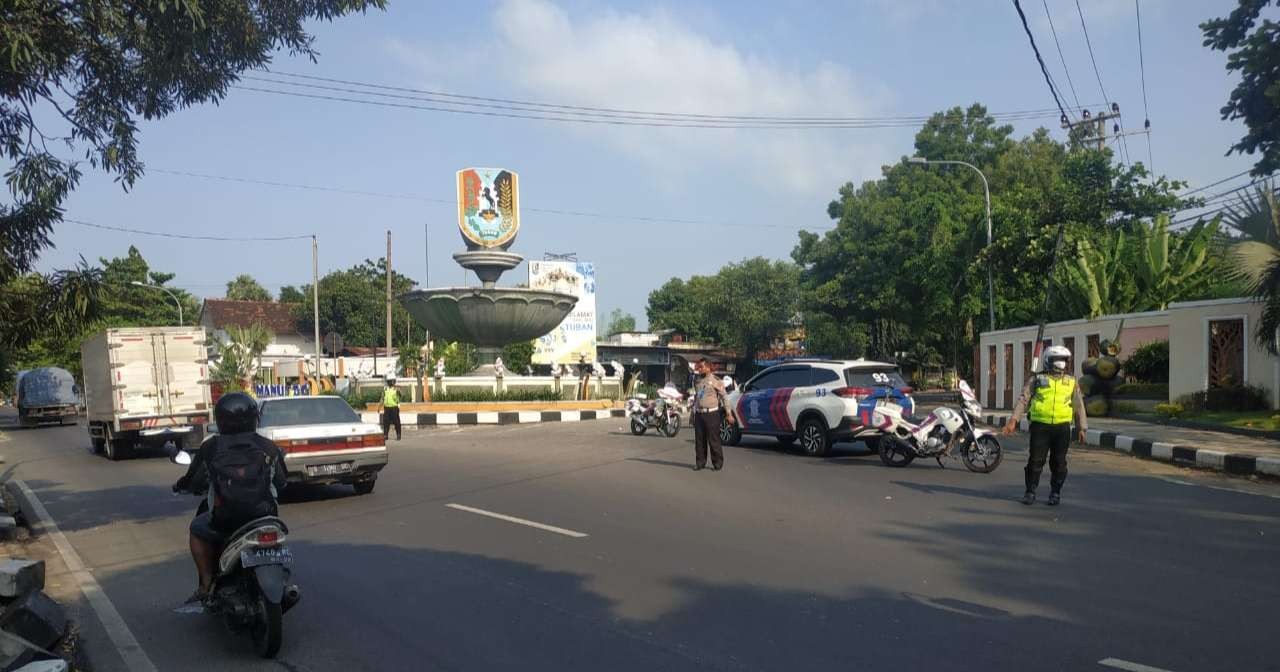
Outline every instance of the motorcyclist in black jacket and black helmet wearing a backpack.
<path fill-rule="evenodd" d="M 200 585 L 188 602 L 209 596 L 228 535 L 257 517 L 276 515 L 275 499 L 287 476 L 284 453 L 257 434 L 257 420 L 252 397 L 224 394 L 214 406 L 218 434 L 200 444 L 187 474 L 173 485 L 175 493 L 207 495 L 191 521 L 191 558 Z"/>

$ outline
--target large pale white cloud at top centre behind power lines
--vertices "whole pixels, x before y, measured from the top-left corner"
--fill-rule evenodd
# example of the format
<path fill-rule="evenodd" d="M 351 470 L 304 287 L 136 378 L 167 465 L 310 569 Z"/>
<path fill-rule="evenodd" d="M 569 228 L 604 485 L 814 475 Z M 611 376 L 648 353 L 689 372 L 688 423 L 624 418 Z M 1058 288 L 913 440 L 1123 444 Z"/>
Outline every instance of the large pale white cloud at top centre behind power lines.
<path fill-rule="evenodd" d="M 507 86 L 534 100 L 644 111 L 735 115 L 876 114 L 887 95 L 847 68 L 785 67 L 717 35 L 707 17 L 663 10 L 571 17 L 549 0 L 504 0 L 492 54 Z M 404 49 L 397 49 L 404 58 Z M 416 59 L 415 59 L 416 60 Z M 468 91 L 475 92 L 475 91 Z M 876 131 L 671 129 L 575 125 L 573 132 L 663 172 L 732 168 L 804 195 L 878 175 Z"/>

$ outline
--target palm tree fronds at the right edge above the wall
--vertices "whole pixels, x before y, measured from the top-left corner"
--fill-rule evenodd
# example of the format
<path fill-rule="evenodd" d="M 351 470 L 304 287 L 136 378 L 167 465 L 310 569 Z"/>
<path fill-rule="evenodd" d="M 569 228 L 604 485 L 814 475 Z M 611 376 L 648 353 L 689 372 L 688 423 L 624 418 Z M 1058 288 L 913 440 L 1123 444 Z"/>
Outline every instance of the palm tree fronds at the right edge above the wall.
<path fill-rule="evenodd" d="M 1226 223 L 1240 233 L 1243 241 L 1231 246 L 1236 275 L 1249 293 L 1262 303 L 1262 319 L 1253 333 L 1254 340 L 1276 355 L 1276 332 L 1280 329 L 1280 204 L 1271 182 L 1258 186 L 1228 209 Z"/>

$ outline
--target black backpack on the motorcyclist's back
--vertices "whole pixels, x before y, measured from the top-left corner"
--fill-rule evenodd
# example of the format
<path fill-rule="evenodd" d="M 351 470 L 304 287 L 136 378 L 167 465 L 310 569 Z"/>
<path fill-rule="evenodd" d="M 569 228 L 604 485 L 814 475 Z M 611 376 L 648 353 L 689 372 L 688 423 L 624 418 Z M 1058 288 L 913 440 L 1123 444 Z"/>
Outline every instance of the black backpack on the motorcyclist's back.
<path fill-rule="evenodd" d="M 271 494 L 275 458 L 255 435 L 232 443 L 219 436 L 209 460 L 209 483 L 214 492 L 212 522 L 216 527 L 234 530 L 246 522 L 276 513 Z"/>

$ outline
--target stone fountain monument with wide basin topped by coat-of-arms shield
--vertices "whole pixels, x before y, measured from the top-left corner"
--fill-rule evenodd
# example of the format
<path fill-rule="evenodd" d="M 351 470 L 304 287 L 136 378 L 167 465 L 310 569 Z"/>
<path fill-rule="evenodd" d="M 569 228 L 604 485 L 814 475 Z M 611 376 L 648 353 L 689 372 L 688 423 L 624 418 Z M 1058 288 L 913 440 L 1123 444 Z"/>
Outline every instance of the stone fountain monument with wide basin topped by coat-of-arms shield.
<path fill-rule="evenodd" d="M 498 168 L 458 172 L 458 229 L 465 252 L 460 266 L 480 278 L 480 287 L 417 289 L 401 305 L 431 338 L 472 343 L 479 367 L 470 375 L 494 375 L 503 346 L 532 340 L 554 329 L 573 310 L 577 297 L 524 287 L 498 287 L 498 278 L 524 257 L 508 252 L 520 230 L 520 183 Z"/>

